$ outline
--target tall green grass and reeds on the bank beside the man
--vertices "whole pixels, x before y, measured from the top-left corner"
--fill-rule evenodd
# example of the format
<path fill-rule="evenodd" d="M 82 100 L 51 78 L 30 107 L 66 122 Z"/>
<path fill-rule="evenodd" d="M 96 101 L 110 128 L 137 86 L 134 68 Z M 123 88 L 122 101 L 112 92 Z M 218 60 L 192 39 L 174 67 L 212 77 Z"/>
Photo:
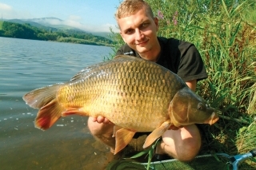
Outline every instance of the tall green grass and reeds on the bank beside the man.
<path fill-rule="evenodd" d="M 254 0 L 147 0 L 158 17 L 158 36 L 192 42 L 209 77 L 197 93 L 222 112 L 206 127 L 209 149 L 247 152 L 256 148 L 256 2 Z M 113 34 L 115 51 L 122 38 Z M 215 144 L 215 145 L 214 145 Z"/>

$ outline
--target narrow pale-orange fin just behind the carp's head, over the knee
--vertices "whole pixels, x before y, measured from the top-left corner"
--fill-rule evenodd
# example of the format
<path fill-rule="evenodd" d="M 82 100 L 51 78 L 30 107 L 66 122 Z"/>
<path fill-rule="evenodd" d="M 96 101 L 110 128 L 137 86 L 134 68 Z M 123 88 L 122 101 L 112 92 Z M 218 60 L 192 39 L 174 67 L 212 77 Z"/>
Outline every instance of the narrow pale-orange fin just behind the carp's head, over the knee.
<path fill-rule="evenodd" d="M 143 148 L 147 148 L 151 144 L 153 144 L 155 140 L 157 140 L 160 136 L 162 136 L 162 133 L 166 132 L 166 130 L 170 128 L 170 125 L 171 125 L 170 121 L 165 121 L 162 123 L 161 126 L 154 129 L 154 131 L 151 132 L 150 135 L 146 137 L 146 141 L 143 144 Z"/>

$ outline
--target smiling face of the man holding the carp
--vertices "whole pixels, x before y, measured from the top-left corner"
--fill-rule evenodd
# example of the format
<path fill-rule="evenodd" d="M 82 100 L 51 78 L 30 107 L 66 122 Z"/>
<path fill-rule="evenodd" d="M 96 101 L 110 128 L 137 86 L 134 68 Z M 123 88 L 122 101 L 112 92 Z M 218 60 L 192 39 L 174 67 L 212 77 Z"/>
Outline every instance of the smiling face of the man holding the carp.
<path fill-rule="evenodd" d="M 150 17 L 145 8 L 118 19 L 118 26 L 123 41 L 142 55 L 151 52 L 158 45 L 158 19 Z"/>

